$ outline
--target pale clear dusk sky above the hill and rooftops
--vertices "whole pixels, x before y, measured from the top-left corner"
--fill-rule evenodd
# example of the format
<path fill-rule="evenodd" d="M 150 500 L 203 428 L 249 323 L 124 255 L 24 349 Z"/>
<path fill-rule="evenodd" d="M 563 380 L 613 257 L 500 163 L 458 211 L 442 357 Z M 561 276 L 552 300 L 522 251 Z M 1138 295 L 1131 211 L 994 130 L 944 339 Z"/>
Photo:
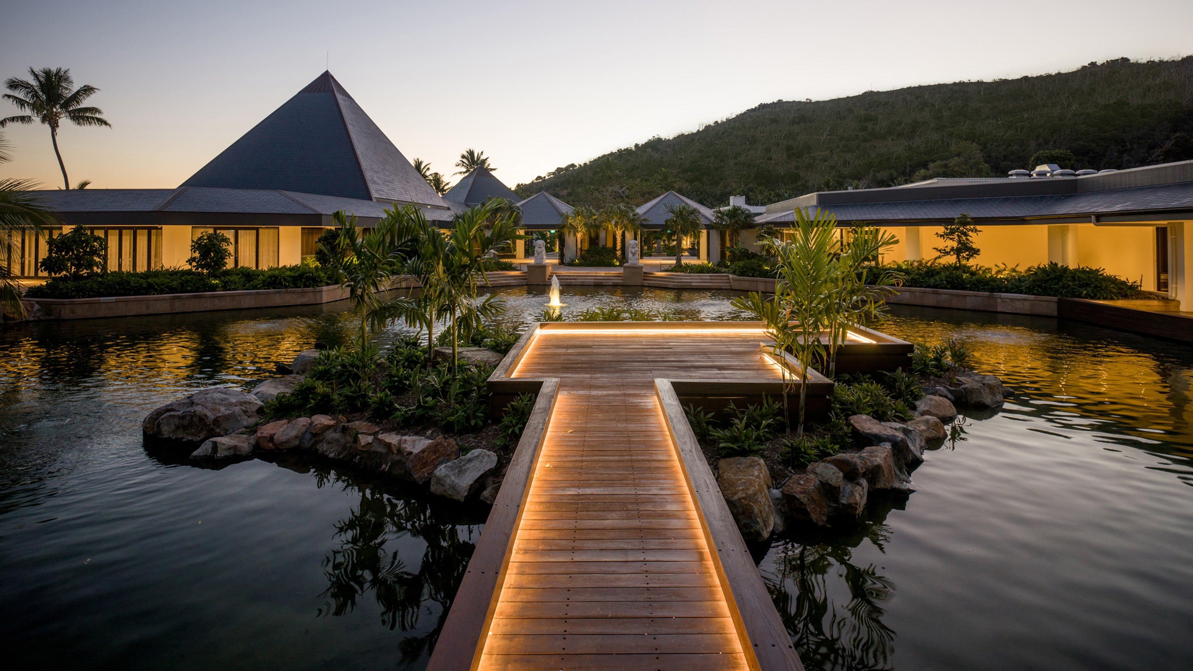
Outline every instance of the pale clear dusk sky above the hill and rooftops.
<path fill-rule="evenodd" d="M 513 186 L 760 103 L 1193 53 L 1191 0 L 2 0 L 2 16 L 0 76 L 68 67 L 101 90 L 113 128 L 60 135 L 72 183 L 93 187 L 177 186 L 328 61 L 408 159 L 451 173 L 472 147 Z M 0 177 L 61 186 L 45 127 L 4 133 Z"/>

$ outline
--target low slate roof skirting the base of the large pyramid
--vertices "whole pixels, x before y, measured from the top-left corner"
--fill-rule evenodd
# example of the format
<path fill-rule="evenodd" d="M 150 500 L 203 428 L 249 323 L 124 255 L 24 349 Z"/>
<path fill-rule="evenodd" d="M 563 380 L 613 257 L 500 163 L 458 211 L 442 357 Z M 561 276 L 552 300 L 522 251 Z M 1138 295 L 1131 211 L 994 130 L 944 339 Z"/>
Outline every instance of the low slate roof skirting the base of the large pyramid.
<path fill-rule="evenodd" d="M 35 191 L 43 205 L 56 213 L 210 213 L 270 215 L 332 215 L 345 210 L 359 217 L 381 218 L 390 203 L 340 198 L 320 193 L 259 189 L 84 189 Z M 427 218 L 450 221 L 443 208 L 424 208 Z"/>

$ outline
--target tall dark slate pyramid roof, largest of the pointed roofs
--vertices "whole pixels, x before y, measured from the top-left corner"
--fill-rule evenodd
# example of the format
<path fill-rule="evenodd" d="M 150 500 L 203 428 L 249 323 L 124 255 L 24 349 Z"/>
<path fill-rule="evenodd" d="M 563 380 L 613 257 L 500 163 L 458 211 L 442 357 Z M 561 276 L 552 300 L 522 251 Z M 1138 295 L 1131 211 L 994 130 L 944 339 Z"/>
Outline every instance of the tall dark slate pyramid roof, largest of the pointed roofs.
<path fill-rule="evenodd" d="M 324 72 L 183 186 L 279 190 L 446 207 Z"/>

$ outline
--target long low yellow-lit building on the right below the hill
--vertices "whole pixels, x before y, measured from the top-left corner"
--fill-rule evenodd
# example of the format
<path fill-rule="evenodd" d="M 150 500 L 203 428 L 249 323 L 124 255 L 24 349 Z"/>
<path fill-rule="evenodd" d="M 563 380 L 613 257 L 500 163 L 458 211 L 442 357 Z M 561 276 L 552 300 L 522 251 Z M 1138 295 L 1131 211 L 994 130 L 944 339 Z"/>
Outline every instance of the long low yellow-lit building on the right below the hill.
<path fill-rule="evenodd" d="M 1006 178 L 821 191 L 767 205 L 755 223 L 783 228 L 797 208 L 829 211 L 842 227 L 864 222 L 894 233 L 900 242 L 889 260 L 902 261 L 937 258 L 935 234 L 968 214 L 979 229 L 973 263 L 1102 267 L 1191 309 L 1193 161 L 1082 173 L 1040 166 Z M 756 229 L 742 232 L 742 244 L 753 248 L 755 236 Z"/>

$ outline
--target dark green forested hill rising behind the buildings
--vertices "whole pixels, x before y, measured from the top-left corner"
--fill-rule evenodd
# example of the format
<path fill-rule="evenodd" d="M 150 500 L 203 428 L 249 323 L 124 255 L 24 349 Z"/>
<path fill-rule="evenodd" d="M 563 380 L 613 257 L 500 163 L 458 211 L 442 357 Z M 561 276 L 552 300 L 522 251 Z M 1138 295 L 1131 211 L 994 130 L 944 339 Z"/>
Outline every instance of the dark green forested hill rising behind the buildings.
<path fill-rule="evenodd" d="M 1182 135 L 1183 134 L 1183 135 Z M 1040 150 L 1071 170 L 1193 159 L 1193 56 L 1090 63 L 1020 79 L 778 101 L 520 184 L 574 205 L 675 189 L 707 205 L 927 177 L 1005 176 Z M 1071 154 L 1070 154 L 1071 153 Z M 1065 165 L 1068 164 L 1068 165 Z"/>

